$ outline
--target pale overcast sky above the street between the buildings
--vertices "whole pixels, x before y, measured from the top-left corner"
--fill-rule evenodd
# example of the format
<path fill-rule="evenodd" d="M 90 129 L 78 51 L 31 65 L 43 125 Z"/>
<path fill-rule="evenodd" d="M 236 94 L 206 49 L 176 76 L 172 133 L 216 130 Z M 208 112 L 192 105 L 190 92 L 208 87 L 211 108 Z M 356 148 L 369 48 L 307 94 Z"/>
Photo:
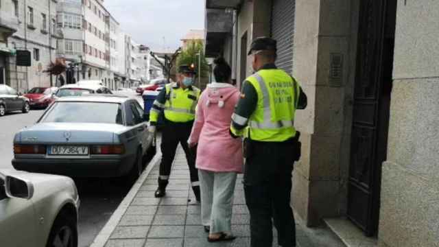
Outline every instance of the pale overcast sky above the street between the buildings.
<path fill-rule="evenodd" d="M 104 0 L 104 4 L 137 43 L 176 49 L 189 30 L 204 28 L 204 1 Z"/>

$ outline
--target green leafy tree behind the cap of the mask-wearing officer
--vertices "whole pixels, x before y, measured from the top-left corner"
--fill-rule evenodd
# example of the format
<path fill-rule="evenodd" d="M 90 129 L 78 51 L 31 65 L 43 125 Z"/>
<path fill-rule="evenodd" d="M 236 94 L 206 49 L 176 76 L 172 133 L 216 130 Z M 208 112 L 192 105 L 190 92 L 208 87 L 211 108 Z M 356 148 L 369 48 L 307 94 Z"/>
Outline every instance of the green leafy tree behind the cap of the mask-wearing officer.
<path fill-rule="evenodd" d="M 201 59 L 198 58 L 198 54 L 200 54 Z M 199 64 L 200 60 L 201 64 Z M 187 64 L 189 66 L 193 64 L 195 66 L 195 71 L 197 71 L 196 78 L 198 78 L 198 76 L 204 78 L 209 75 L 209 64 L 204 57 L 204 45 L 201 41 L 189 41 L 187 48 L 184 49 L 177 58 L 177 67 L 180 67 L 182 64 Z M 200 71 L 200 75 L 198 75 L 198 71 Z"/>

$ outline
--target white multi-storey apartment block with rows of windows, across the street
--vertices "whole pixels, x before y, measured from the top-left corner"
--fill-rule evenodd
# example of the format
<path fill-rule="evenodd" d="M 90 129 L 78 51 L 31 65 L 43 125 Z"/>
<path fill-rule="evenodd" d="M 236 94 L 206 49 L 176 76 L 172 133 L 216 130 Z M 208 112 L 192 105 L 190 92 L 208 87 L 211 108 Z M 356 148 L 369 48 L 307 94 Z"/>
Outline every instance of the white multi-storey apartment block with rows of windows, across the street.
<path fill-rule="evenodd" d="M 119 45 L 123 34 L 104 1 L 62 0 L 57 13 L 57 25 L 64 34 L 57 55 L 73 69 L 71 82 L 101 80 L 116 89 L 125 78 L 124 49 Z"/>

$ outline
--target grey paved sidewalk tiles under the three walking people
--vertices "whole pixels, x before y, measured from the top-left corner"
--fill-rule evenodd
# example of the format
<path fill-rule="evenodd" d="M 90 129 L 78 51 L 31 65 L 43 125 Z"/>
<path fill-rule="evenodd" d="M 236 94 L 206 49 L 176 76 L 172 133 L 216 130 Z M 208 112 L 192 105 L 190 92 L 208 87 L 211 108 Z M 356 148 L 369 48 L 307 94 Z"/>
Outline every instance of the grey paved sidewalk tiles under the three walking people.
<path fill-rule="evenodd" d="M 238 176 L 235 188 L 232 218 L 232 231 L 237 239 L 228 243 L 211 244 L 206 241 L 207 233 L 204 233 L 200 224 L 200 205 L 188 204 L 188 199 L 194 196 L 189 187 L 189 169 L 183 150 L 181 148 L 177 150 L 165 198 L 154 198 L 158 163 L 151 165 L 155 167 L 152 168 L 115 230 L 110 234 L 106 247 L 250 246 L 250 217 L 244 200 L 241 175 Z M 315 239 L 311 241 L 309 238 L 307 233 L 309 229 L 300 224 L 296 227 L 298 246 L 339 246 L 330 244 L 333 239 L 329 239 L 329 242 L 328 239 L 324 239 L 322 241 L 324 245 L 315 244 Z M 276 237 L 274 242 L 276 243 Z"/>

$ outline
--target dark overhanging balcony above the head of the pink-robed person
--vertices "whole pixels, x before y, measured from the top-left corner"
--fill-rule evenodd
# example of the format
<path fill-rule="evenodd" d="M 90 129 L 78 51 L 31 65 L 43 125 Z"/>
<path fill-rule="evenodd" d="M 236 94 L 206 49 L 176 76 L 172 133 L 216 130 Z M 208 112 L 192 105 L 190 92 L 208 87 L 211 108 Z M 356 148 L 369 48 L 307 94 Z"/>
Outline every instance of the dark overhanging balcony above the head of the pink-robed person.
<path fill-rule="evenodd" d="M 233 12 L 219 9 L 206 10 L 206 56 L 218 56 L 233 33 Z"/>

